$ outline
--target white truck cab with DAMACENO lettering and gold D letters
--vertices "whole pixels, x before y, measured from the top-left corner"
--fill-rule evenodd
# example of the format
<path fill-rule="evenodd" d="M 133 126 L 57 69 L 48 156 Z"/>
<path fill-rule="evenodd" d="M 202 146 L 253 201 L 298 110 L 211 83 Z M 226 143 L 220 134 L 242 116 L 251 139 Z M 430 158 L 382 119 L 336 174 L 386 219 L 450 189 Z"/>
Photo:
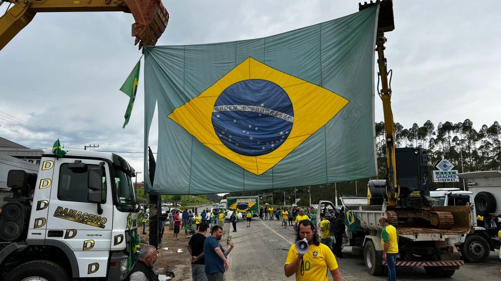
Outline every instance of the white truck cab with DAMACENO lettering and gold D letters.
<path fill-rule="evenodd" d="M 125 279 L 137 233 L 132 176 L 119 155 L 81 150 L 46 150 L 38 175 L 11 170 L 13 197 L 0 216 L 2 278 Z M 47 264 L 57 275 L 38 269 Z"/>

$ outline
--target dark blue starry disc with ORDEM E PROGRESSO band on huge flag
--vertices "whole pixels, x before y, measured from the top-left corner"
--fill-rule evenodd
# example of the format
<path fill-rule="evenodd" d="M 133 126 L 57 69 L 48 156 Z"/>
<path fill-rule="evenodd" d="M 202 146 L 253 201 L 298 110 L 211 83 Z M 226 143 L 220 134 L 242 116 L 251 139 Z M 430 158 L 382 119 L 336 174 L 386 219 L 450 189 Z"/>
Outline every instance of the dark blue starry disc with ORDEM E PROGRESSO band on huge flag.
<path fill-rule="evenodd" d="M 224 89 L 212 111 L 221 142 L 246 156 L 270 153 L 291 133 L 294 109 L 287 92 L 263 79 L 236 82 Z"/>

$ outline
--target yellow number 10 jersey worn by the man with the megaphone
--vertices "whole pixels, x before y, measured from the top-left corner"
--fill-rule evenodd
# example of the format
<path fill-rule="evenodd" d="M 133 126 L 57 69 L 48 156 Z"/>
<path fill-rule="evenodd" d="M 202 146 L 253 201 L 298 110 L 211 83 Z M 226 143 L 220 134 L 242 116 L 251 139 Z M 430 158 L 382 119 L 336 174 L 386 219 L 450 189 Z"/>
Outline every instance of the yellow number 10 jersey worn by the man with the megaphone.
<path fill-rule="evenodd" d="M 298 256 L 296 244 L 292 244 L 287 255 L 285 264 L 290 264 Z M 296 280 L 301 281 L 328 281 L 329 270 L 338 268 L 338 263 L 332 250 L 320 243 L 320 245 L 310 245 L 310 249 L 303 256 L 304 275 L 301 275 L 301 263 L 296 270 Z M 329 270 L 327 270 L 329 269 Z"/>

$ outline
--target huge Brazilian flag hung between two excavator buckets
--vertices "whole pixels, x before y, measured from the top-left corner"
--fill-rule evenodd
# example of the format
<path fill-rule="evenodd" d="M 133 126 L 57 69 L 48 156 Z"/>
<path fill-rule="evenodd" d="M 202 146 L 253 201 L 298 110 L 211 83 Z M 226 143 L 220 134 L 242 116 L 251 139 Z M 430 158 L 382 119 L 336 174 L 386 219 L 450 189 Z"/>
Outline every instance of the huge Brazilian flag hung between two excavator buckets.
<path fill-rule="evenodd" d="M 145 149 L 156 104 L 159 123 L 147 191 L 206 194 L 374 176 L 376 27 L 374 6 L 265 38 L 147 46 Z"/>

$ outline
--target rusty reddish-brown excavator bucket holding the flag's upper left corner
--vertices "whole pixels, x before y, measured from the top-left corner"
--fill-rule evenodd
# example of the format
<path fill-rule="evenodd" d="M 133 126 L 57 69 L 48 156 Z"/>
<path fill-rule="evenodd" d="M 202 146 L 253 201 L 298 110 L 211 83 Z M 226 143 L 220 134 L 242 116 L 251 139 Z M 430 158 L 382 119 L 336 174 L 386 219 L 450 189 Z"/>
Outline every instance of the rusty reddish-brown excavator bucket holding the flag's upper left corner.
<path fill-rule="evenodd" d="M 155 45 L 162 35 L 169 13 L 161 0 L 123 0 L 136 22 L 132 24 L 132 36 L 136 37 L 139 49 Z"/>

